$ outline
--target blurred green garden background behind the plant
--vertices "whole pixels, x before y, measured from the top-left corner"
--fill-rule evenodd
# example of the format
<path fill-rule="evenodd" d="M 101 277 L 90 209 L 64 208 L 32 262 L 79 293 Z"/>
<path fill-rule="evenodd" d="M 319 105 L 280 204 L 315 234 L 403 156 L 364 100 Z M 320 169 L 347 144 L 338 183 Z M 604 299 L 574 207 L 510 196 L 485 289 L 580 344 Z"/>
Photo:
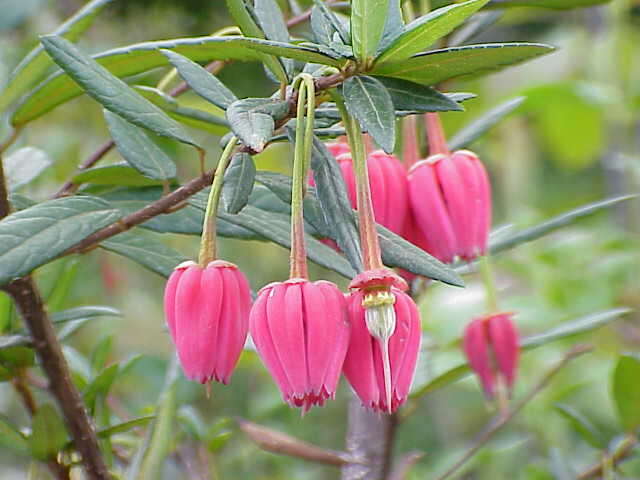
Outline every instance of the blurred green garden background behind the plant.
<path fill-rule="evenodd" d="M 0 84 L 37 43 L 83 2 L 79 0 L 0 0 Z M 281 2 L 285 7 L 285 2 Z M 301 2 L 302 3 L 302 2 Z M 303 5 L 304 6 L 304 5 Z M 115 1 L 83 36 L 82 48 L 98 52 L 134 42 L 207 35 L 231 24 L 224 2 L 204 0 Z M 295 30 L 304 32 L 302 26 Z M 451 91 L 468 91 L 477 98 L 465 102 L 465 112 L 443 115 L 450 134 L 495 105 L 526 96 L 522 105 L 472 145 L 486 162 L 494 186 L 494 226 L 533 225 L 552 215 L 608 196 L 640 192 L 640 3 L 613 2 L 573 11 L 513 8 L 473 39 L 540 41 L 558 47 L 552 55 L 479 80 L 447 84 Z M 136 78 L 155 85 L 166 71 Z M 258 64 L 233 64 L 220 78 L 239 97 L 268 95 L 274 85 Z M 192 94 L 187 105 L 210 107 Z M 8 127 L 0 127 L 0 138 Z M 219 152 L 219 138 L 194 135 Z M 20 193 L 45 199 L 75 167 L 107 137 L 101 109 L 85 97 L 61 106 L 29 125 L 16 145 L 34 146 L 54 160 L 36 182 Z M 178 163 L 179 178 L 197 175 L 195 154 L 163 142 Z M 259 169 L 288 172 L 291 154 L 276 145 L 257 157 Z M 118 162 L 110 153 L 106 163 Z M 211 166 L 211 165 L 210 165 Z M 562 322 L 617 306 L 640 308 L 640 202 L 629 201 L 598 213 L 544 239 L 521 245 L 496 258 L 500 303 L 517 312 L 524 336 L 541 333 Z M 157 234 L 153 234 L 157 235 Z M 198 238 L 161 235 L 187 256 L 197 253 Z M 252 288 L 286 277 L 288 252 L 258 242 L 222 240 L 221 257 L 246 272 Z M 345 281 L 320 268 L 314 278 Z M 148 414 L 162 389 L 172 345 L 164 327 L 164 279 L 129 260 L 95 251 L 82 258 L 56 261 L 37 272 L 51 311 L 79 305 L 110 305 L 121 317 L 95 319 L 69 338 L 66 353 L 82 384 L 96 374 L 96 351 L 106 364 L 138 354 L 120 375 L 108 404 L 122 420 Z M 425 332 L 415 388 L 462 360 L 458 339 L 464 325 L 484 311 L 482 287 L 469 276 L 465 290 L 435 285 L 420 299 Z M 584 334 L 545 345 L 522 357 L 515 391 L 521 396 L 570 345 L 589 342 L 593 353 L 580 358 L 556 377 L 525 410 L 481 453 L 469 462 L 461 478 L 543 480 L 561 477 L 563 469 L 578 472 L 600 458 L 599 450 L 577 433 L 557 411 L 566 404 L 581 412 L 606 446 L 622 429 L 611 399 L 611 372 L 617 355 L 640 348 L 640 314 L 636 312 Z M 15 315 L 12 322 L 19 322 Z M 98 346 L 101 346 L 98 348 Z M 92 366 L 92 361 L 93 365 Z M 92 371 L 92 368 L 94 369 Z M 35 381 L 43 381 L 34 373 Z M 638 379 L 640 381 L 640 379 Z M 237 428 L 234 417 L 247 418 L 304 440 L 343 448 L 347 400 L 346 383 L 337 400 L 313 409 L 304 418 L 280 400 L 279 392 L 250 351 L 227 387 L 204 389 L 182 380 L 179 388 L 179 428 L 176 449 L 166 463 L 166 479 L 301 479 L 337 478 L 334 467 L 265 453 Z M 46 400 L 42 392 L 38 399 Z M 435 477 L 450 465 L 493 415 L 474 378 L 448 385 L 421 397 L 398 429 L 396 453 L 426 453 L 410 479 Z M 640 405 L 638 405 L 640 408 Z M 17 425 L 28 425 L 26 413 L 8 382 L 0 383 L 0 412 Z M 143 431 L 115 437 L 125 454 Z M 2 432 L 0 432 L 0 437 Z M 28 457 L 2 448 L 0 477 L 26 478 Z M 193 469 L 208 465 L 201 474 Z M 192 465 L 189 470 L 187 465 Z M 194 466 L 195 465 L 195 466 Z M 622 466 L 620 478 L 640 478 L 640 461 Z M 46 478 L 44 468 L 39 473 Z M 208 476 L 207 476 L 208 475 Z"/>

